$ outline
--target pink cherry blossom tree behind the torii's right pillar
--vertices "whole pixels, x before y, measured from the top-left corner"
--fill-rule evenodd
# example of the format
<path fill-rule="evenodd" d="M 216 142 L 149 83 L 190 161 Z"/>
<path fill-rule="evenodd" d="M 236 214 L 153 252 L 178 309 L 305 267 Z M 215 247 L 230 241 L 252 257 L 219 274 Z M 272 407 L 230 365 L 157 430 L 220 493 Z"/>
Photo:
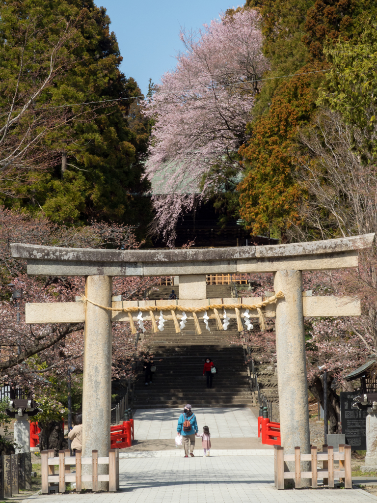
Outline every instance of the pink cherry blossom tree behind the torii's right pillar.
<path fill-rule="evenodd" d="M 303 289 L 312 290 L 313 295 L 356 295 L 362 304 L 360 317 L 305 318 L 308 386 L 323 407 L 323 370 L 319 367 L 325 365 L 330 433 L 340 431 L 339 391 L 352 390 L 352 384 L 346 382 L 344 377 L 363 365 L 377 348 L 373 331 L 374 311 L 371 313 L 368 306 L 370 303 L 375 305 L 377 290 L 373 288 L 372 271 L 364 265 L 361 254 L 358 269 L 303 273 Z M 257 282 L 256 278 L 254 280 Z M 272 275 L 260 275 L 259 282 L 262 288 L 273 289 Z M 262 288 L 258 287 L 254 295 L 262 295 Z M 253 330 L 241 332 L 238 338 L 232 338 L 233 344 L 238 342 L 248 346 L 251 357 L 260 363 L 276 362 L 274 319 L 267 321 L 267 330 L 264 332 L 260 331 L 258 322 L 253 322 Z"/>

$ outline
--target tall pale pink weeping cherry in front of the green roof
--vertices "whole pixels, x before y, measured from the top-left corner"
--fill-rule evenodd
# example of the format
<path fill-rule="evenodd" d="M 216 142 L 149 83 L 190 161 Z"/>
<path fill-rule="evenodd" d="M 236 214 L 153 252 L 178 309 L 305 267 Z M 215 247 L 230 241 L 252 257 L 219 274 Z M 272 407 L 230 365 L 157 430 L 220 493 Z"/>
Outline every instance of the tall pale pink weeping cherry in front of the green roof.
<path fill-rule="evenodd" d="M 212 168 L 231 167 L 234 175 L 241 169 L 237 151 L 268 68 L 259 25 L 256 10 L 242 10 L 198 32 L 181 31 L 185 51 L 146 104 L 154 120 L 147 161 L 157 194 L 152 229 L 169 245 L 181 212 L 216 189 Z"/>

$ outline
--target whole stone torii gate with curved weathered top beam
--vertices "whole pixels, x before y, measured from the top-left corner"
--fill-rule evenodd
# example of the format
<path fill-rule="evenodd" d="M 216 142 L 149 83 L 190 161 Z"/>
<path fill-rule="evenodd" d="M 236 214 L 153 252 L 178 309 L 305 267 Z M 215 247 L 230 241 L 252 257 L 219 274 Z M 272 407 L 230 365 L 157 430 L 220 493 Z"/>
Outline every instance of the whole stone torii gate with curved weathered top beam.
<path fill-rule="evenodd" d="M 113 321 L 125 312 L 105 307 L 164 306 L 166 301 L 112 301 L 113 276 L 179 276 L 179 305 L 236 304 L 240 299 L 207 299 L 206 274 L 274 273 L 274 290 L 284 298 L 265 316 L 276 316 L 277 378 L 281 445 L 294 453 L 310 452 L 304 316 L 358 316 L 360 301 L 350 297 L 311 297 L 303 292 L 302 271 L 357 267 L 358 251 L 371 246 L 374 234 L 306 243 L 172 250 L 102 250 L 11 244 L 12 256 L 27 261 L 30 275 L 85 276 L 88 302 L 31 303 L 27 323 L 85 322 L 82 455 L 110 449 L 111 354 Z M 247 308 L 261 298 L 244 298 Z M 99 304 L 96 306 L 94 302 Z M 235 305 L 236 307 L 236 305 Z M 135 313 L 137 314 L 137 313 Z M 164 317 L 169 318 L 167 313 Z M 250 312 L 257 317 L 257 310 Z M 235 315 L 228 314 L 229 317 Z M 137 317 L 133 316 L 133 319 Z M 209 313 L 214 318 L 214 312 Z M 203 316 L 202 316 L 203 318 Z M 151 319 L 146 316 L 144 319 Z"/>

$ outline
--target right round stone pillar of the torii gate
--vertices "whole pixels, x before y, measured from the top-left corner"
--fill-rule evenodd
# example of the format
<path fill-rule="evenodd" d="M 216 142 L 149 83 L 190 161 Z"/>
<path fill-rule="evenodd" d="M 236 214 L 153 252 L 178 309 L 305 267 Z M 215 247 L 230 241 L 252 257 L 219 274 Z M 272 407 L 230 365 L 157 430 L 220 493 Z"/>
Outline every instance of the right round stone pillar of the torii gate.
<path fill-rule="evenodd" d="M 281 445 L 286 454 L 294 454 L 296 446 L 301 447 L 302 453 L 309 454 L 302 272 L 277 271 L 274 290 L 284 292 L 284 298 L 276 302 L 275 320 Z M 305 480 L 302 481 L 304 485 Z"/>

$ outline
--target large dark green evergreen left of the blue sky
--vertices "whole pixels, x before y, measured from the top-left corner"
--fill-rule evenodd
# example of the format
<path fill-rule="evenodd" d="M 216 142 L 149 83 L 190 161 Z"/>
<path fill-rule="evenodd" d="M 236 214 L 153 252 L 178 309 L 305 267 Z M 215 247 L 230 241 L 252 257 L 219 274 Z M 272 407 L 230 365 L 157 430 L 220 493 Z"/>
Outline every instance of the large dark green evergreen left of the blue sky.
<path fill-rule="evenodd" d="M 1 4 L 3 32 L 8 33 L 2 61 L 9 58 L 12 36 L 17 47 L 16 35 L 24 19 L 44 30 L 47 47 L 53 29 L 59 36 L 64 23 L 75 22 L 74 43 L 62 44 L 70 59 L 34 104 L 39 108 L 47 103 L 54 111 L 52 120 L 57 110 L 63 120 L 38 143 L 38 152 L 45 159 L 43 169 L 31 158 L 21 178 L 3 182 L 3 202 L 29 211 L 42 209 L 57 223 L 100 217 L 145 229 L 150 207 L 143 196 L 149 183 L 142 175 L 149 123 L 139 112 L 138 99 L 133 98 L 141 96 L 137 83 L 119 70 L 122 57 L 109 30 L 106 10 L 92 0 L 26 0 L 13 2 L 11 7 Z M 23 16 L 18 14 L 19 8 Z M 42 44 L 37 47 L 39 57 L 44 52 Z M 8 71 L 15 80 L 19 65 Z M 90 104 L 72 105 L 81 103 Z"/>

